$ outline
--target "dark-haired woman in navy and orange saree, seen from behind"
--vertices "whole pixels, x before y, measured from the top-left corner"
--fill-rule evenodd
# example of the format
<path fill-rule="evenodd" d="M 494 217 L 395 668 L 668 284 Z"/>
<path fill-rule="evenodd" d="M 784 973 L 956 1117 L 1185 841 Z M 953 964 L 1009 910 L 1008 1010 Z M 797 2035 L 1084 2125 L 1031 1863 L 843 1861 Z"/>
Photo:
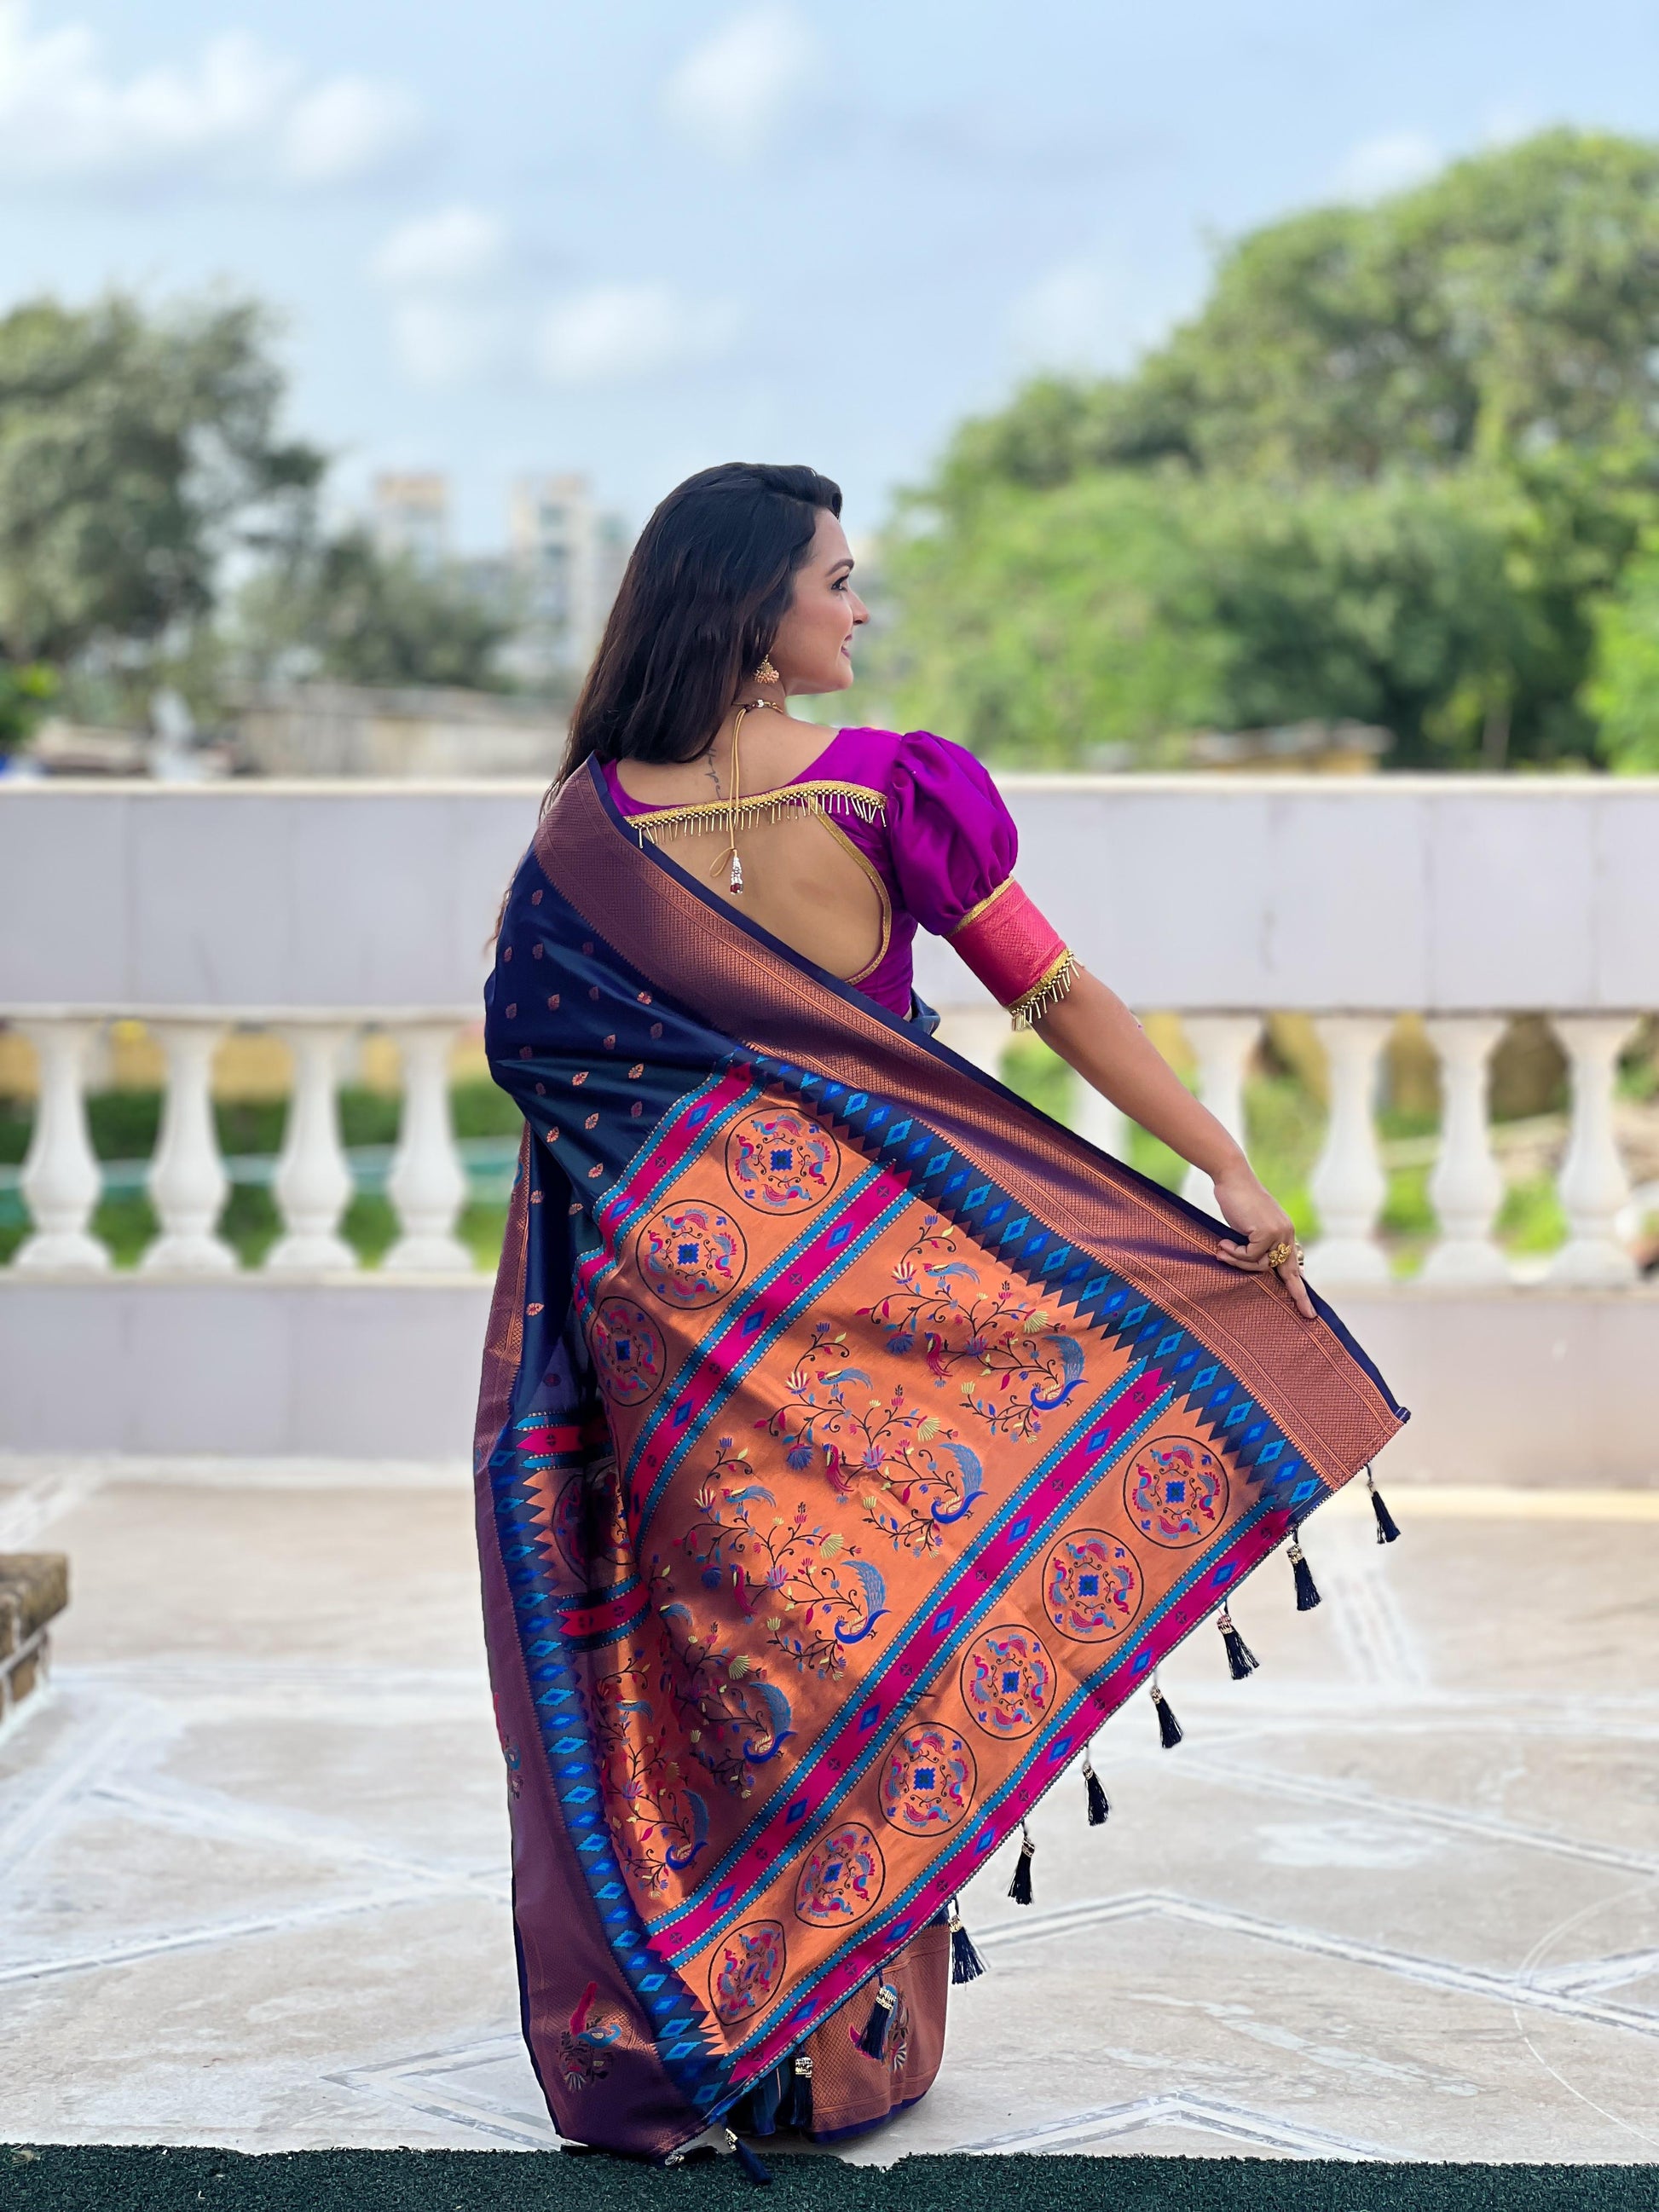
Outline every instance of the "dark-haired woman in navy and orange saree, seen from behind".
<path fill-rule="evenodd" d="M 927 2090 L 953 1893 L 1079 1752 L 1104 1818 L 1088 1739 L 1141 1686 L 1179 1736 L 1159 1657 L 1287 1537 L 1314 1601 L 1296 1526 L 1405 1418 L 980 763 L 787 712 L 854 677 L 838 515 L 732 465 L 650 518 L 487 987 L 524 2024 L 562 2135 L 670 2159 Z M 938 1044 L 918 925 L 1225 1230 Z"/>

